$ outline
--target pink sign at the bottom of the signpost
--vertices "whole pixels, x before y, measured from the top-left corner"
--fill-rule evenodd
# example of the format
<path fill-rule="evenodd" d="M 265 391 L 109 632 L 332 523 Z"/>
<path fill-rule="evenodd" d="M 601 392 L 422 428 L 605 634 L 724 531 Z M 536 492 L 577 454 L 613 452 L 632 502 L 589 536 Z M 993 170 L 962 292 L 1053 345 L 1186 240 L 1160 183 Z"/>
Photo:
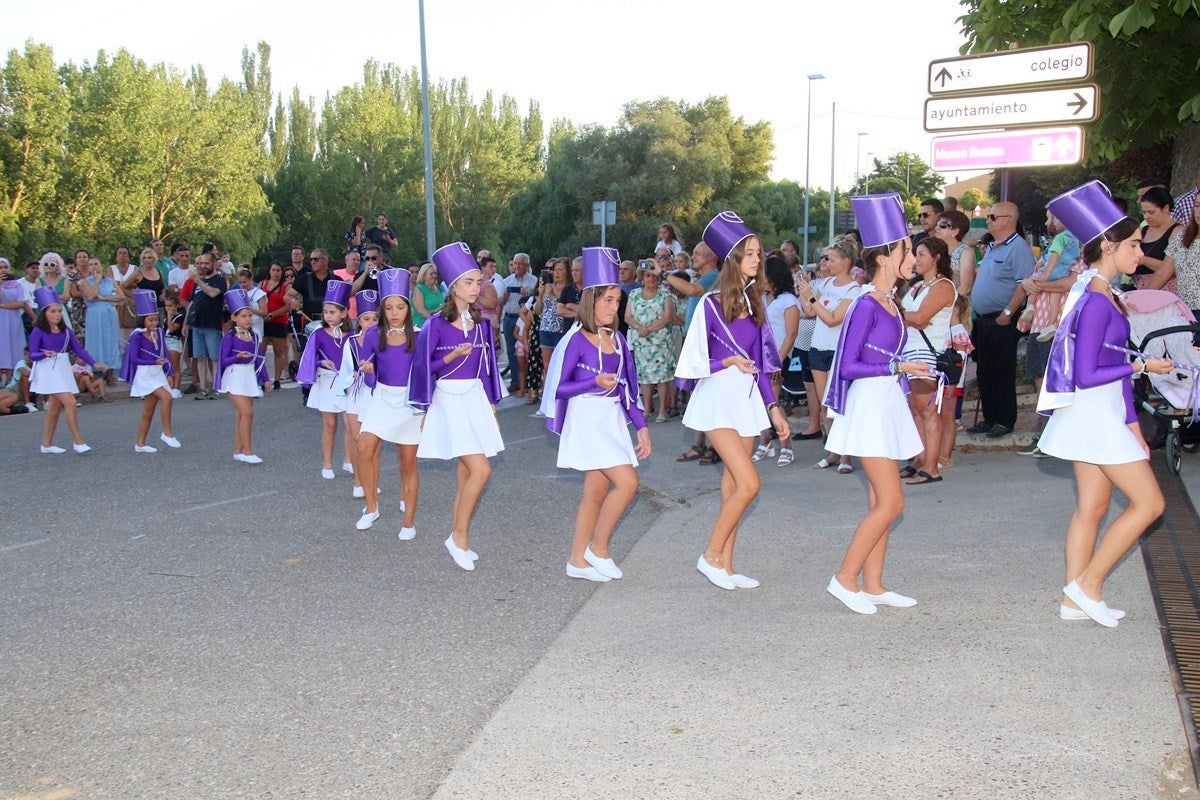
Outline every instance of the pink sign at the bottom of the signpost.
<path fill-rule="evenodd" d="M 1084 130 L 1073 126 L 934 137 L 930 166 L 944 173 L 1078 164 L 1082 158 Z"/>

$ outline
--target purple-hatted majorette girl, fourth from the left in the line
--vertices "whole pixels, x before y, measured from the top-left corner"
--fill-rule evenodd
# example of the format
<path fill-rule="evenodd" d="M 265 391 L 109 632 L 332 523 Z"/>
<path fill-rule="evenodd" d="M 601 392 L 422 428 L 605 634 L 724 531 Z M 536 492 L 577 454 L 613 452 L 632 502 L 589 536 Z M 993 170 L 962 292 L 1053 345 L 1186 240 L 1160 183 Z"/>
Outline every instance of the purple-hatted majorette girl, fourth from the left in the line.
<path fill-rule="evenodd" d="M 305 404 L 320 411 L 320 476 L 329 481 L 334 480 L 334 440 L 337 438 L 337 416 L 341 414 L 334 378 L 342 366 L 346 309 L 349 302 L 350 283 L 330 281 L 325 284 L 325 302 L 320 309 L 322 327 L 308 337 L 296 372 L 296 381 L 310 387 Z"/>

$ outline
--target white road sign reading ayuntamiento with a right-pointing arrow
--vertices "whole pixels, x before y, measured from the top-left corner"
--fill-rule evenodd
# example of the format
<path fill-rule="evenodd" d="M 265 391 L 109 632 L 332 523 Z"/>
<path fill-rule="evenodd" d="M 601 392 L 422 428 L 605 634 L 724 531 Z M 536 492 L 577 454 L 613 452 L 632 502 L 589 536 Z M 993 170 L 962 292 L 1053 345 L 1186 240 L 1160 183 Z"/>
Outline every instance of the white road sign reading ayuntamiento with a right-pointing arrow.
<path fill-rule="evenodd" d="M 925 131 L 973 131 L 1091 122 L 1100 110 L 1100 90 L 1094 84 L 1001 91 L 965 97 L 925 100 Z"/>

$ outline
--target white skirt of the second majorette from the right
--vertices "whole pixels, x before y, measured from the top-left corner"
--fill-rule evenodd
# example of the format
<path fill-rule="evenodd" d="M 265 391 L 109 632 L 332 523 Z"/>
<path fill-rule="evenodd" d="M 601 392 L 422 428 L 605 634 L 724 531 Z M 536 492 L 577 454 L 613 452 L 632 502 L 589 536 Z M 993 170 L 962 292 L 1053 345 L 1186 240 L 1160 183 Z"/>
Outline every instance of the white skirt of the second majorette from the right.
<path fill-rule="evenodd" d="M 895 375 L 852 381 L 846 413 L 834 417 L 826 440 L 826 450 L 841 456 L 894 461 L 912 458 L 924 449 Z"/>

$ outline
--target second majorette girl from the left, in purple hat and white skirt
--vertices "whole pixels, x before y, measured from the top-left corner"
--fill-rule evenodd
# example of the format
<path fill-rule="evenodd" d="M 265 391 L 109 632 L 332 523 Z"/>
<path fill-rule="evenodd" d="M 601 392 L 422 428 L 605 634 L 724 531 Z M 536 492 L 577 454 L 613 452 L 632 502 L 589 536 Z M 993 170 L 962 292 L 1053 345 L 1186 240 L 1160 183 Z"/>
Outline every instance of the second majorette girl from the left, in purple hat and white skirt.
<path fill-rule="evenodd" d="M 133 290 L 133 313 L 138 327 L 130 336 L 121 361 L 121 380 L 130 385 L 130 397 L 144 398 L 133 452 L 158 452 L 157 447 L 146 444 L 146 437 L 150 434 L 155 408 L 160 407 L 162 419 L 160 439 L 168 447 L 179 447 L 179 439 L 170 427 L 170 404 L 174 398 L 167 384 L 167 377 L 173 372 L 167 359 L 166 335 L 158 330 L 158 297 L 152 289 Z"/>

